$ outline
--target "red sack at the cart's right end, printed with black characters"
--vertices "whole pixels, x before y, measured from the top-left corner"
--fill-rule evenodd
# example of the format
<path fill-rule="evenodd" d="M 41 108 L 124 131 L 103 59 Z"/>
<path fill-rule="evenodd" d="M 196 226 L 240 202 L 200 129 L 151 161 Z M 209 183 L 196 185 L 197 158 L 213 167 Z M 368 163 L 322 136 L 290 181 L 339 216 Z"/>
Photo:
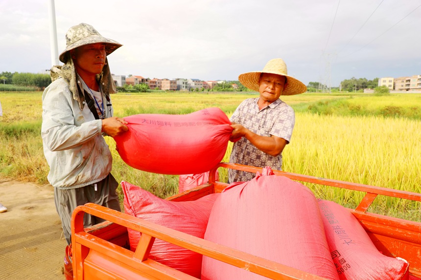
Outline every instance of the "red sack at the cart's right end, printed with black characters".
<path fill-rule="evenodd" d="M 381 254 L 347 208 L 328 200 L 320 200 L 319 207 L 341 280 L 408 279 L 408 262 Z"/>

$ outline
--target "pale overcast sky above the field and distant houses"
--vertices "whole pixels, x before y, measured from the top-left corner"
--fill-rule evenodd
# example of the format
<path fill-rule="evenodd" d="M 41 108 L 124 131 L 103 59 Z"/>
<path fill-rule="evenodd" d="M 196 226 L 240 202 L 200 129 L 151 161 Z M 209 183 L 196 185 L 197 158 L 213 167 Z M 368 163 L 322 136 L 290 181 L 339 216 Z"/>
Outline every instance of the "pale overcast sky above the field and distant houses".
<path fill-rule="evenodd" d="M 0 0 L 0 72 L 52 64 L 50 0 Z M 282 58 L 288 74 L 344 79 L 421 75 L 421 0 L 55 0 L 58 53 L 89 23 L 123 46 L 116 75 L 238 80 Z M 330 73 L 330 74 L 329 74 Z M 330 77 L 330 82 L 329 82 Z"/>

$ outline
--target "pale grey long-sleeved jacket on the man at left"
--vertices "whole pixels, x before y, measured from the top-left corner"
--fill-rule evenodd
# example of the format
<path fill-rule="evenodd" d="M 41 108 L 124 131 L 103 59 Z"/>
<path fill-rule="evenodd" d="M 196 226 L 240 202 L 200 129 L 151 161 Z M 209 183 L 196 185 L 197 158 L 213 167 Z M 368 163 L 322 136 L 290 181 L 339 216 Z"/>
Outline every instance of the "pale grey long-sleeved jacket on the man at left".
<path fill-rule="evenodd" d="M 76 75 L 73 81 L 77 80 Z M 111 172 L 112 155 L 101 134 L 101 120 L 95 120 L 88 106 L 74 98 L 69 79 L 53 81 L 42 99 L 41 136 L 50 167 L 49 183 L 59 189 L 75 189 L 104 179 Z M 112 116 L 112 107 L 105 111 L 106 117 Z"/>

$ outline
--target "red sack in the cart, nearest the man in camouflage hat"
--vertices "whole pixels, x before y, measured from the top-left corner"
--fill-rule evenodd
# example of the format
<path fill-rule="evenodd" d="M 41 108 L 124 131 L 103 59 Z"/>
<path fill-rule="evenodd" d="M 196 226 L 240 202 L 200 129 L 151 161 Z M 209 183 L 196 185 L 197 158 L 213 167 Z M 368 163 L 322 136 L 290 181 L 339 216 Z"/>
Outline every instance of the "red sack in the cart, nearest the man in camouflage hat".
<path fill-rule="evenodd" d="M 203 238 L 213 202 L 220 194 L 209 194 L 194 201 L 175 202 L 155 196 L 140 187 L 121 182 L 124 193 L 124 212 L 153 223 Z M 127 229 L 130 249 L 135 251 L 141 233 Z M 169 267 L 200 278 L 202 255 L 185 248 L 155 239 L 149 254 Z"/>

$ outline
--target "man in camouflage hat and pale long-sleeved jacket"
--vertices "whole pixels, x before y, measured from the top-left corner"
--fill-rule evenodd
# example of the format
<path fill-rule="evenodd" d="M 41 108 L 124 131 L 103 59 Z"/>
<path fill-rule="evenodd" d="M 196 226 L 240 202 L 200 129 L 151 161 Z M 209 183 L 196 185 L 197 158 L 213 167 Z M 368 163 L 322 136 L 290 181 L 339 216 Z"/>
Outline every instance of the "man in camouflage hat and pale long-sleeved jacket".
<path fill-rule="evenodd" d="M 50 167 L 47 178 L 54 187 L 54 201 L 68 244 L 76 206 L 93 202 L 120 211 L 118 183 L 110 173 L 112 156 L 103 137 L 127 131 L 127 122 L 113 117 L 110 100 L 117 89 L 107 56 L 120 46 L 89 24 L 70 27 L 66 49 L 59 57 L 64 65 L 51 68 L 52 83 L 42 96 L 41 136 Z M 85 227 L 100 221 L 84 215 Z M 65 258 L 66 262 L 69 259 Z"/>

